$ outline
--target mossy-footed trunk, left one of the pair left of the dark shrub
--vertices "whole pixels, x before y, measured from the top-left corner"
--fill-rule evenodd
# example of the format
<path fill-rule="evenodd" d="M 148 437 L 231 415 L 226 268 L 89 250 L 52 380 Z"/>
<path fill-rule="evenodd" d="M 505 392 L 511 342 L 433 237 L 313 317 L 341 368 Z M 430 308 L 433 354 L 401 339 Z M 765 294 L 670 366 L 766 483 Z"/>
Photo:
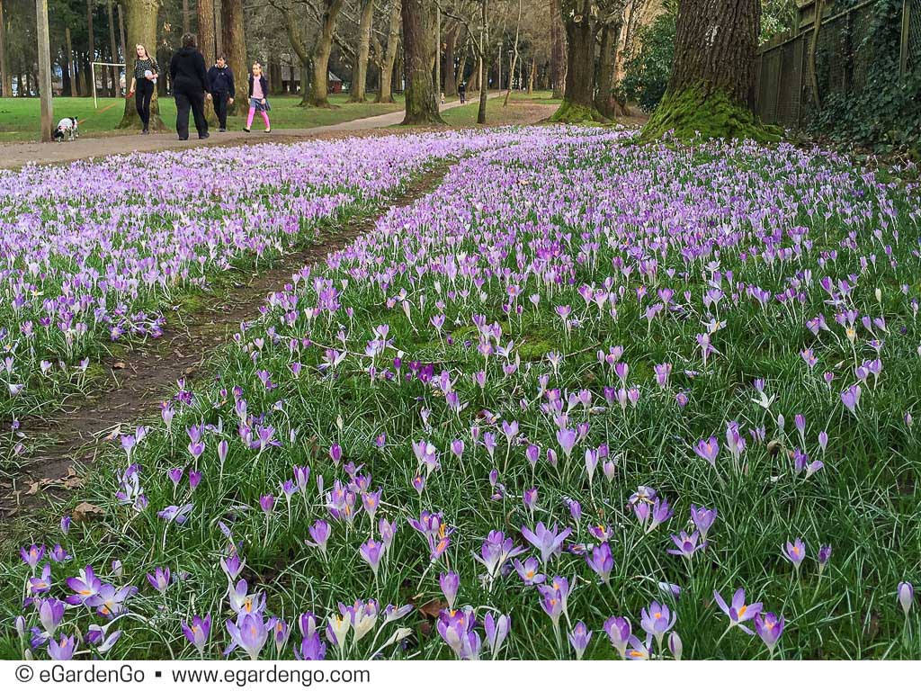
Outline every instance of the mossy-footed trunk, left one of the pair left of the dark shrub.
<path fill-rule="evenodd" d="M 566 36 L 566 76 L 563 103 L 555 122 L 603 121 L 595 108 L 595 37 L 599 18 L 589 0 L 561 0 Z"/>

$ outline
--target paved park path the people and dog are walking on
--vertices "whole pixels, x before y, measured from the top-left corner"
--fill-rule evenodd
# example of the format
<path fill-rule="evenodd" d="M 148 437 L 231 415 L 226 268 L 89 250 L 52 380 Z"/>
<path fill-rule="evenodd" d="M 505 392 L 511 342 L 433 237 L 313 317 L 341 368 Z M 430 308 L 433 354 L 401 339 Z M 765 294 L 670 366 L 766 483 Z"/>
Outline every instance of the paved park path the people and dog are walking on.
<path fill-rule="evenodd" d="M 501 94 L 490 94 L 490 99 L 495 99 Z M 479 99 L 469 100 L 468 103 L 479 102 Z M 449 111 L 461 105 L 461 101 L 454 100 L 441 107 L 441 111 Z M 304 129 L 273 129 L 266 135 L 261 129 L 255 129 L 247 134 L 242 131 L 218 132 L 211 130 L 208 139 L 199 139 L 192 135 L 187 141 L 181 142 L 174 132 L 155 133 L 152 135 L 117 135 L 109 137 L 85 137 L 76 142 L 41 143 L 17 142 L 0 146 L 0 169 L 20 168 L 27 163 L 69 163 L 83 158 L 111 156 L 113 154 L 129 154 L 135 151 L 162 151 L 165 149 L 183 149 L 193 146 L 220 146 L 225 144 L 257 144 L 267 141 L 291 141 L 317 135 L 335 135 L 338 133 L 367 132 L 382 127 L 391 127 L 402 123 L 406 111 L 388 112 L 358 120 L 348 120 L 344 123 L 327 124 L 321 127 L 308 127 Z M 194 131 L 194 128 L 192 128 Z"/>

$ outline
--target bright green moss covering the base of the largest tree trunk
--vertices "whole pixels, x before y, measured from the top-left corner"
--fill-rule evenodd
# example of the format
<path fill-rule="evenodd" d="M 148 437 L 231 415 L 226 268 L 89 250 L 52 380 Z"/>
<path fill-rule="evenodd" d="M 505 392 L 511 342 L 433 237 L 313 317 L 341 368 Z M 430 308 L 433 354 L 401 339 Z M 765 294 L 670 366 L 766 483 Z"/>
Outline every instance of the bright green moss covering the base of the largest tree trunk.
<path fill-rule="evenodd" d="M 779 127 L 762 123 L 725 93 L 703 87 L 687 88 L 677 95 L 666 92 L 643 127 L 640 139 L 654 141 L 668 132 L 678 139 L 702 136 L 778 142 L 783 138 Z"/>

